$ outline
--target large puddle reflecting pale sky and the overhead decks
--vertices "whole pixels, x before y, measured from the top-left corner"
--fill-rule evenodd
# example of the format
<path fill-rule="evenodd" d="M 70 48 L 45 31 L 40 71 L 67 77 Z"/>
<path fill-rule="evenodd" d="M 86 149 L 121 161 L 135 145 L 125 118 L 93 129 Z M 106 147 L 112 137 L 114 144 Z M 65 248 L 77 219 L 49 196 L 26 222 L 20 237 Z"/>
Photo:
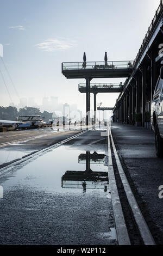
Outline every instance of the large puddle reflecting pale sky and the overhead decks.
<path fill-rule="evenodd" d="M 75 188 L 80 191 L 90 188 L 108 190 L 108 168 L 104 166 L 104 157 L 104 152 L 89 153 L 68 146 L 52 149 L 32 162 L 23 163 L 20 169 L 15 167 L 2 184 L 4 194 L 5 189 L 17 185 L 55 193 L 76 193 Z"/>

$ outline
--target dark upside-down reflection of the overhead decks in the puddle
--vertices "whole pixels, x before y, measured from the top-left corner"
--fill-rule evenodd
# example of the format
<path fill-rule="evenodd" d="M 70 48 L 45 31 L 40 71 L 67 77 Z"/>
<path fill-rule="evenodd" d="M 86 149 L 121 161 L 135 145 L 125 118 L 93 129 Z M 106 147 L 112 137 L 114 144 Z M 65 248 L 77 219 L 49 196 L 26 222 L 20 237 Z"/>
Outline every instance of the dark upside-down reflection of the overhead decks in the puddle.
<path fill-rule="evenodd" d="M 94 172 L 90 168 L 90 164 L 104 164 L 104 158 L 104 154 L 97 154 L 96 152 L 91 154 L 86 151 L 86 154 L 80 154 L 78 162 L 85 163 L 86 169 L 84 171 L 67 170 L 61 179 L 62 188 L 83 188 L 83 191 L 94 188 L 107 191 L 108 172 Z"/>

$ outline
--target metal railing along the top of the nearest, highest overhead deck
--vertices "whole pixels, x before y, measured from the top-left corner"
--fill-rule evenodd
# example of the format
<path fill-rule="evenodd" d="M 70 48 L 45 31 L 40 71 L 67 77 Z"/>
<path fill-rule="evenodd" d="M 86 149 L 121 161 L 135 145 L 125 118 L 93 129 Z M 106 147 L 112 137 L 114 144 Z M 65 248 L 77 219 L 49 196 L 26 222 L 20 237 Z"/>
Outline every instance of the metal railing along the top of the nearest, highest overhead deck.
<path fill-rule="evenodd" d="M 63 70 L 133 69 L 133 60 L 123 62 L 64 62 Z"/>

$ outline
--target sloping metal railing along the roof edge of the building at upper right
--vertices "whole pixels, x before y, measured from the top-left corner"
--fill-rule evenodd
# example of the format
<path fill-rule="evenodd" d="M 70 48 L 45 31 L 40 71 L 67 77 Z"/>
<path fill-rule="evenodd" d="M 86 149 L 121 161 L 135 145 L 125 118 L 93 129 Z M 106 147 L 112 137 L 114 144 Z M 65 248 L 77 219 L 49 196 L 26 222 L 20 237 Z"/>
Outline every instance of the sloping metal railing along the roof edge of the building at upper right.
<path fill-rule="evenodd" d="M 146 41 L 148 40 L 148 37 L 149 37 L 149 35 L 151 34 L 151 32 L 152 32 L 152 30 L 153 30 L 154 23 L 155 23 L 155 21 L 156 21 L 156 18 L 158 17 L 158 15 L 159 15 L 160 12 L 161 12 L 162 6 L 163 6 L 163 0 L 160 1 L 160 5 L 159 5 L 158 9 L 157 9 L 156 12 L 155 12 L 155 15 L 154 15 L 154 18 L 153 18 L 153 20 L 152 20 L 152 23 L 151 23 L 151 25 L 150 25 L 149 28 L 148 28 L 148 31 L 147 31 L 146 36 L 145 36 L 145 39 L 143 39 L 143 42 L 142 42 L 142 44 L 141 44 L 141 46 L 140 46 L 140 49 L 139 49 L 139 52 L 137 53 L 137 56 L 136 56 L 136 58 L 135 58 L 135 60 L 134 60 L 134 65 L 136 64 L 137 59 L 139 59 L 140 53 L 141 53 L 141 51 L 142 51 L 142 48 L 145 46 Z"/>

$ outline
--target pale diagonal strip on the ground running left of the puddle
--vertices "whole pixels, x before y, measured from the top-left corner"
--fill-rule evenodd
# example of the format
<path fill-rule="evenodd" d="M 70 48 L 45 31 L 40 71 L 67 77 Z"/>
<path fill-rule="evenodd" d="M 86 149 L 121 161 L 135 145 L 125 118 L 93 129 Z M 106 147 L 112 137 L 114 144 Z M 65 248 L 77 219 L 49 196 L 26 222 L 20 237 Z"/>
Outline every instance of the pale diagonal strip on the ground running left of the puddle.
<path fill-rule="evenodd" d="M 11 172 L 11 171 L 14 169 L 14 167 L 17 166 L 18 164 L 21 164 L 21 163 L 23 163 L 23 162 L 25 162 L 25 161 L 27 161 L 27 160 L 29 160 L 29 159 L 30 159 L 30 160 L 33 160 L 35 157 L 41 156 L 41 155 L 44 154 L 46 151 L 49 151 L 49 150 L 58 148 L 58 147 L 60 147 L 62 144 L 66 143 L 66 142 L 68 142 L 68 141 L 71 141 L 71 139 L 74 139 L 74 138 L 76 138 L 76 137 L 82 135 L 82 134 L 85 133 L 85 132 L 87 132 L 87 131 L 83 131 L 83 132 L 78 133 L 77 135 L 73 135 L 73 136 L 70 137 L 70 138 L 64 139 L 64 141 L 61 141 L 61 142 L 59 142 L 59 143 L 56 143 L 56 144 L 54 144 L 54 145 L 52 145 L 52 146 L 49 146 L 49 147 L 47 147 L 47 148 L 45 148 L 45 149 L 39 150 L 39 151 L 37 151 L 36 153 L 34 153 L 34 154 L 32 154 L 32 155 L 26 156 L 26 157 L 24 157 L 23 159 L 20 159 L 20 160 L 14 162 L 14 163 L 9 164 L 9 165 L 6 166 L 6 167 L 1 168 L 1 169 L 0 169 L 0 178 L 2 178 L 7 172 Z"/>

